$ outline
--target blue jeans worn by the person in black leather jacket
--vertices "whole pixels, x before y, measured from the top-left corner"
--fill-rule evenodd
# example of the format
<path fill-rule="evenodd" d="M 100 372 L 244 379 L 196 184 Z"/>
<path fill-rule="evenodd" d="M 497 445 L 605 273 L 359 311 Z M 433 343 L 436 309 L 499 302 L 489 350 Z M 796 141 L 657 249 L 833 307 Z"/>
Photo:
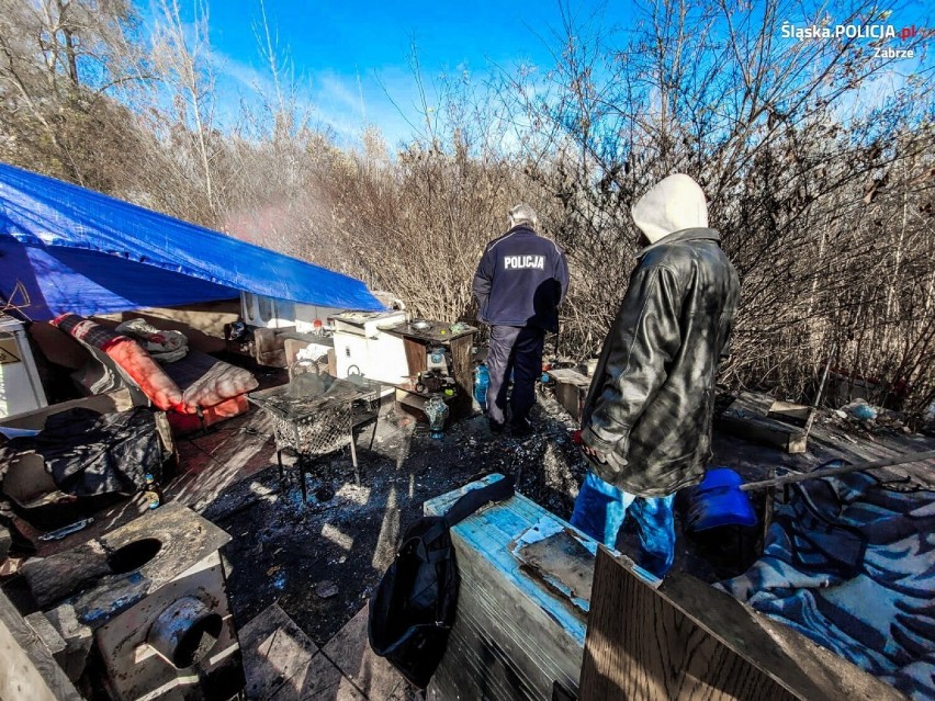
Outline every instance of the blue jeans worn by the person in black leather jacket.
<path fill-rule="evenodd" d="M 617 533 L 629 513 L 637 523 L 640 555 L 637 564 L 664 577 L 675 559 L 675 495 L 644 498 L 621 491 L 588 472 L 572 513 L 572 525 L 608 547 L 616 547 Z"/>

